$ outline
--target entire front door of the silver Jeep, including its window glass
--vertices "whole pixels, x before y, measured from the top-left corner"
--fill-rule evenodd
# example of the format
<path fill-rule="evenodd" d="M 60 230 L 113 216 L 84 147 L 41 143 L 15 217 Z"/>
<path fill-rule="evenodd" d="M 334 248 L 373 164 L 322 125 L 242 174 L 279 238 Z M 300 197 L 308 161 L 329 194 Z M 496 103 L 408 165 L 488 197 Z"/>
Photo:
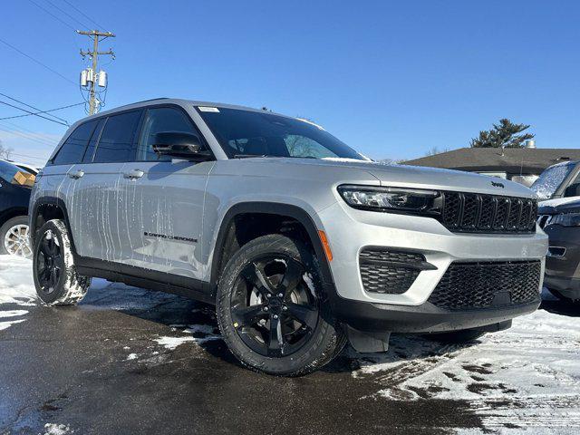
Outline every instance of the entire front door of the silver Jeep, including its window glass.
<path fill-rule="evenodd" d="M 124 201 L 134 204 L 127 215 L 131 256 L 125 263 L 200 278 L 204 195 L 214 163 L 157 154 L 153 140 L 163 131 L 201 137 L 189 115 L 178 107 L 150 107 L 144 114 L 138 161 L 127 165 L 127 178 L 122 180 Z"/>

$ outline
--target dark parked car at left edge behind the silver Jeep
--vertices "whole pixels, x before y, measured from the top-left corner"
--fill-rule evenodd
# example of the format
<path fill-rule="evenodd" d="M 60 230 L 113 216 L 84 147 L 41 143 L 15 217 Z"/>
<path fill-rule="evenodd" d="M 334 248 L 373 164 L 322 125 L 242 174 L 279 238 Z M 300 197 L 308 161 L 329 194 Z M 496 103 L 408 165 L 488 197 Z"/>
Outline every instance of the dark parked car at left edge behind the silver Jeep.
<path fill-rule="evenodd" d="M 0 254 L 32 256 L 28 240 L 28 202 L 32 188 L 14 175 L 22 169 L 0 160 Z"/>

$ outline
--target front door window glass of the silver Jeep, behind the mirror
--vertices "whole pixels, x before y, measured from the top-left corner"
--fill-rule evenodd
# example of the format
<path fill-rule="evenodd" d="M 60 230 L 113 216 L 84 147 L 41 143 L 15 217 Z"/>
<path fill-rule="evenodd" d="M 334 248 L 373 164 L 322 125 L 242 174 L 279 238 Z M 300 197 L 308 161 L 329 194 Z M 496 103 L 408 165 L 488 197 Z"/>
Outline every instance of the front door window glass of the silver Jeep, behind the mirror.
<path fill-rule="evenodd" d="M 156 133 L 162 131 L 179 131 L 197 134 L 189 117 L 183 111 L 171 107 L 149 109 L 141 130 L 137 160 L 171 160 L 170 156 L 162 156 L 153 150 L 153 138 Z"/>

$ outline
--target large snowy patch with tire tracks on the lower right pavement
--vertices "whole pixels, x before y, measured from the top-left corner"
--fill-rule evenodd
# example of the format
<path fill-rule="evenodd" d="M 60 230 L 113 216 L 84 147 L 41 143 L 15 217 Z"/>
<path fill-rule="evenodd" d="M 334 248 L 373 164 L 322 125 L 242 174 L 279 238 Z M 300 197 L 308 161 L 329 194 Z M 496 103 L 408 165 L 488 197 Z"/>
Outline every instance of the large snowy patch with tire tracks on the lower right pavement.
<path fill-rule="evenodd" d="M 388 353 L 353 355 L 353 376 L 378 384 L 372 397 L 467 401 L 486 429 L 501 433 L 580 430 L 578 317 L 538 311 L 471 346 L 393 338 Z"/>

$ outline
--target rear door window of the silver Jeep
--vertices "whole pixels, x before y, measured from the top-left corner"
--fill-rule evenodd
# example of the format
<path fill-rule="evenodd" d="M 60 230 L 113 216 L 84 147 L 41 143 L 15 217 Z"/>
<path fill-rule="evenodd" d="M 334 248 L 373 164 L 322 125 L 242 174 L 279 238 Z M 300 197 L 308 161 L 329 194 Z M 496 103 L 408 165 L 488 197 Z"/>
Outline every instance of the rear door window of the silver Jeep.
<path fill-rule="evenodd" d="M 139 124 L 140 113 L 140 111 L 129 111 L 107 119 L 92 160 L 94 163 L 132 160 L 133 139 Z"/>

